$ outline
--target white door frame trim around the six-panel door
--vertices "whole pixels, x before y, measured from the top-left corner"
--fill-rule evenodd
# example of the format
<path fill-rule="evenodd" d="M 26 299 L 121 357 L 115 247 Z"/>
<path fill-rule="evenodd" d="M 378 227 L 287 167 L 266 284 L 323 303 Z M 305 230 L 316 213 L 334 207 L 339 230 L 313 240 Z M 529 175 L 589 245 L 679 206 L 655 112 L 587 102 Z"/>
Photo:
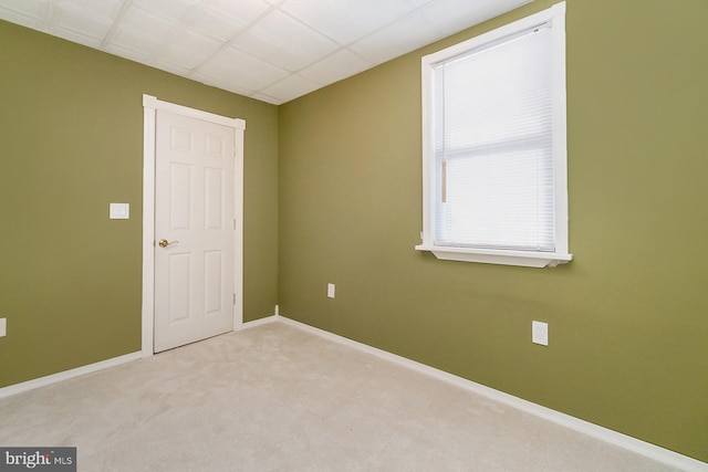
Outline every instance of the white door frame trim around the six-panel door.
<path fill-rule="evenodd" d="M 233 331 L 243 325 L 243 132 L 246 120 L 215 115 L 143 95 L 143 306 L 142 355 L 154 354 L 155 335 L 155 132 L 157 111 L 233 128 Z"/>

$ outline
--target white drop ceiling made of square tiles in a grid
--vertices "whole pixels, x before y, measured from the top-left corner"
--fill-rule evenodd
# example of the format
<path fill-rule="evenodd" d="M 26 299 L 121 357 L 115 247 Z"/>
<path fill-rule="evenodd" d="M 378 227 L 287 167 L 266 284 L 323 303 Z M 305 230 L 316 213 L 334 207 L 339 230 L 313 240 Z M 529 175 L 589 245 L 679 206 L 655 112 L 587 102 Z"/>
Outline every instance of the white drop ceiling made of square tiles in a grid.
<path fill-rule="evenodd" d="M 0 0 L 0 19 L 282 104 L 531 0 Z"/>

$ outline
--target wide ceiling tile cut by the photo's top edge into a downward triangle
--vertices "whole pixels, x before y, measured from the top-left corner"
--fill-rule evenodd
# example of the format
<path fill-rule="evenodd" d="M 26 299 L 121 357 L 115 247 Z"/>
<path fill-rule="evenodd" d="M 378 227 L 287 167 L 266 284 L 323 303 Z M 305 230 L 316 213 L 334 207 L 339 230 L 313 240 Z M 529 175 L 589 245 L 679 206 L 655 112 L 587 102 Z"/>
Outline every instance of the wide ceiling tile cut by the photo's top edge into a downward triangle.
<path fill-rule="evenodd" d="M 282 9 L 342 45 L 410 11 L 403 0 L 288 0 Z"/>

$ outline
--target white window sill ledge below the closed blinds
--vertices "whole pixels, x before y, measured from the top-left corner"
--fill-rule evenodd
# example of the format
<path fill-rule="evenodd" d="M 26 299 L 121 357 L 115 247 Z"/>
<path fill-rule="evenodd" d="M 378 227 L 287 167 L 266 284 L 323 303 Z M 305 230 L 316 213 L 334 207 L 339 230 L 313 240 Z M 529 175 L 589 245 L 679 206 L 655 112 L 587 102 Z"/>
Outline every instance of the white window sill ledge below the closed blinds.
<path fill-rule="evenodd" d="M 440 245 L 416 245 L 418 251 L 429 251 L 446 261 L 480 262 L 483 264 L 520 265 L 524 268 L 555 268 L 573 259 L 573 254 L 500 251 L 493 249 L 445 248 Z"/>

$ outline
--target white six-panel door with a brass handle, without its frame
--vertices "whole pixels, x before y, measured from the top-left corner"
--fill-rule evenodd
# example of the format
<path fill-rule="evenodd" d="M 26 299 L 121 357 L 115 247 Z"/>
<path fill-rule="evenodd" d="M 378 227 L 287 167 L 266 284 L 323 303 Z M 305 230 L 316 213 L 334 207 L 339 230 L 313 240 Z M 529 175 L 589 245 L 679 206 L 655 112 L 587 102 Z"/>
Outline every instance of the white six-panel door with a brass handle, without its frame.
<path fill-rule="evenodd" d="M 155 353 L 233 329 L 235 129 L 158 109 Z"/>

